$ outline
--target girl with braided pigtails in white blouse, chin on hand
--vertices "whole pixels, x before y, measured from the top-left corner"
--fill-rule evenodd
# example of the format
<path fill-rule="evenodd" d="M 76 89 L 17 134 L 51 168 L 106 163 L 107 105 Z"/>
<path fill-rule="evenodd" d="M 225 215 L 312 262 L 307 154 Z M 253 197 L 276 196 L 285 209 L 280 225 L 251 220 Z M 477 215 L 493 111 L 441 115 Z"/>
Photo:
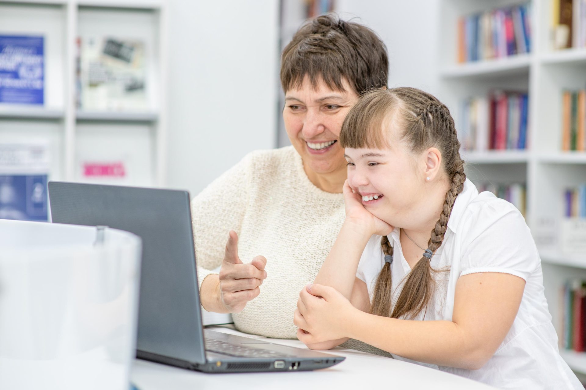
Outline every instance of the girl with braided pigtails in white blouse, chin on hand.
<path fill-rule="evenodd" d="M 558 353 L 529 228 L 466 179 L 448 108 L 376 89 L 339 142 L 346 219 L 299 294 L 299 340 L 329 349 L 350 337 L 498 388 L 583 389 Z"/>

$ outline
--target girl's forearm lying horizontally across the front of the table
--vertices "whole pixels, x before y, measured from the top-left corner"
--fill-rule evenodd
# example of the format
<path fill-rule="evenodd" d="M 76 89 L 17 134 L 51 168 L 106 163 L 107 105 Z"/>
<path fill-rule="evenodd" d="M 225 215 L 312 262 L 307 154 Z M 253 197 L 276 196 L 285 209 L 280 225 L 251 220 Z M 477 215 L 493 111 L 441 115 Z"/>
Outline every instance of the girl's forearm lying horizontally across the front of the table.
<path fill-rule="evenodd" d="M 481 340 L 452 321 L 401 320 L 356 310 L 347 329 L 352 339 L 422 363 L 475 370 L 490 358 Z"/>

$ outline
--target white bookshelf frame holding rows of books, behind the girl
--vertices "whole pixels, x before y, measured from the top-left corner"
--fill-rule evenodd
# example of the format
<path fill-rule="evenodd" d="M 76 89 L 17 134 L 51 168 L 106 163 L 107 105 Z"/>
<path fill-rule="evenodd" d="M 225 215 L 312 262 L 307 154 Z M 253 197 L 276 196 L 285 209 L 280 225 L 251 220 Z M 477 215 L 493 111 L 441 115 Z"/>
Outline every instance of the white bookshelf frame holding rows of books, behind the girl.
<path fill-rule="evenodd" d="M 462 156 L 473 181 L 526 183 L 526 220 L 540 250 L 547 302 L 559 330 L 562 285 L 571 278 L 586 279 L 586 253 L 562 253 L 556 230 L 563 218 L 564 189 L 586 182 L 586 153 L 561 151 L 561 91 L 586 87 L 586 49 L 553 51 L 548 40 L 550 0 L 532 0 L 532 53 L 456 64 L 459 16 L 523 3 L 442 0 L 439 97 L 450 107 L 457 128 L 465 98 L 486 96 L 497 88 L 529 92 L 527 150 L 462 151 Z M 561 354 L 575 372 L 586 374 L 586 353 Z"/>

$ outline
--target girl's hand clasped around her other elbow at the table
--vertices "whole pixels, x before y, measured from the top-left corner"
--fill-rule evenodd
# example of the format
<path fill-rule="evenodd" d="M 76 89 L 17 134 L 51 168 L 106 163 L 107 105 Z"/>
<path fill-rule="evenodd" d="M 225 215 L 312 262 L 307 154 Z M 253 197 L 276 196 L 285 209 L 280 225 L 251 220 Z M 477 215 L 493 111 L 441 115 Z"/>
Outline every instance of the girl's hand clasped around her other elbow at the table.
<path fill-rule="evenodd" d="M 348 319 L 358 310 L 335 288 L 308 285 L 299 292 L 293 322 L 300 331 L 297 338 L 305 344 L 321 343 L 348 336 Z"/>

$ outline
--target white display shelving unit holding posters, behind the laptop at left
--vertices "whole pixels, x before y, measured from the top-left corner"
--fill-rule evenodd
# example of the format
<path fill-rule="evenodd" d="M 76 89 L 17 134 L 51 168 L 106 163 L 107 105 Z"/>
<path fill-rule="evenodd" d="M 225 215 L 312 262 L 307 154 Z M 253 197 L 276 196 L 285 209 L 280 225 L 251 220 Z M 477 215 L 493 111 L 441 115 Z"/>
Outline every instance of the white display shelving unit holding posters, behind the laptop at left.
<path fill-rule="evenodd" d="M 45 105 L 0 104 L 0 140 L 49 141 L 50 180 L 88 181 L 82 158 L 130 156 L 123 184 L 165 185 L 167 29 L 166 0 L 0 0 L 0 34 L 45 38 Z M 145 43 L 147 110 L 77 111 L 76 40 L 90 36 Z"/>

